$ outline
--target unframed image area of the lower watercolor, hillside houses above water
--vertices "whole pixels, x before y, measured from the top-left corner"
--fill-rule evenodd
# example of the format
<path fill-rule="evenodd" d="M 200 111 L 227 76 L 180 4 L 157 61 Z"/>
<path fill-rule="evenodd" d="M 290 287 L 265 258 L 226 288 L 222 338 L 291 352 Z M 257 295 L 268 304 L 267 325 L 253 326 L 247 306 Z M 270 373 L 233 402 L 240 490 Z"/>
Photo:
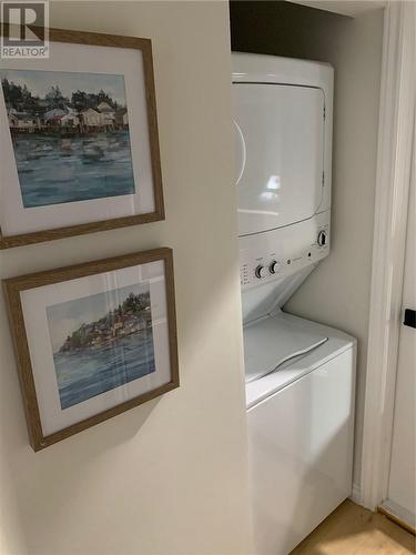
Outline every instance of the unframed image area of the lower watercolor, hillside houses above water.
<path fill-rule="evenodd" d="M 149 283 L 47 307 L 61 408 L 155 371 Z"/>

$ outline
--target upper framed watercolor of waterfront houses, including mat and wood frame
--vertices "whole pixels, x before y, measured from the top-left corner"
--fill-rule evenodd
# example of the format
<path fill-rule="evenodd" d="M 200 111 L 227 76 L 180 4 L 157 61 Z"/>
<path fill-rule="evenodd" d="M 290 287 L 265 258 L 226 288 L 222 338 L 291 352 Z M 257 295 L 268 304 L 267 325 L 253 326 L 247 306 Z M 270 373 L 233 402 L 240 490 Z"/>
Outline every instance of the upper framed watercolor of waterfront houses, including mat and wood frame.
<path fill-rule="evenodd" d="M 149 39 L 50 29 L 0 79 L 0 248 L 164 219 Z"/>

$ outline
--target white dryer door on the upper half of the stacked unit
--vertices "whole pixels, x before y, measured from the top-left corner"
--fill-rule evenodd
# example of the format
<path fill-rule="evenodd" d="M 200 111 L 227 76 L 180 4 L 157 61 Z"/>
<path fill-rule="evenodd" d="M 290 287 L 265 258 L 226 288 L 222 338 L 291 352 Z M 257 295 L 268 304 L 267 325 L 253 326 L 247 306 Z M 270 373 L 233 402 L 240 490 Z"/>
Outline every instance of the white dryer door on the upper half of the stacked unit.
<path fill-rule="evenodd" d="M 324 172 L 322 89 L 233 83 L 239 236 L 311 218 Z"/>

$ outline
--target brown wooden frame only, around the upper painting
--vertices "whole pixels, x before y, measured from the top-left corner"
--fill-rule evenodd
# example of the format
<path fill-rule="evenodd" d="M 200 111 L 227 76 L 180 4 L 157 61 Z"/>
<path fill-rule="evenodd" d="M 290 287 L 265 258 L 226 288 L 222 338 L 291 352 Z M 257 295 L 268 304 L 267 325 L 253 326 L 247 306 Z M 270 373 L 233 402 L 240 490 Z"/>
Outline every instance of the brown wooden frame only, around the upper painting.
<path fill-rule="evenodd" d="M 35 28 L 33 27 L 35 30 Z M 64 42 L 72 44 L 89 44 L 97 47 L 116 47 L 136 49 L 142 52 L 144 84 L 146 92 L 146 115 L 149 125 L 149 142 L 151 151 L 152 178 L 154 189 L 154 212 L 145 214 L 113 218 L 98 222 L 89 222 L 77 225 L 68 225 L 53 230 L 35 231 L 19 235 L 2 235 L 0 230 L 0 249 L 20 246 L 42 241 L 51 241 L 84 233 L 94 233 L 98 231 L 113 230 L 128 225 L 138 225 L 141 223 L 155 222 L 164 220 L 164 203 L 162 189 L 162 171 L 159 148 L 156 101 L 154 89 L 152 42 L 150 39 L 140 39 L 135 37 L 122 37 L 116 34 L 104 34 L 82 31 L 69 31 L 65 29 L 49 29 L 50 42 Z"/>

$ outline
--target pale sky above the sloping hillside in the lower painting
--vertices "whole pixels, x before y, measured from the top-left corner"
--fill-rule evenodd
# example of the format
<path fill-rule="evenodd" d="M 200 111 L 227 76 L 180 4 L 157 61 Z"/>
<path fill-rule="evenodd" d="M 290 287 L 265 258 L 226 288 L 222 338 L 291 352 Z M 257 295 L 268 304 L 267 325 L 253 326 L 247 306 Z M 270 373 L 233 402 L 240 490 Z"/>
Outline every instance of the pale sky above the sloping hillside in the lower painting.
<path fill-rule="evenodd" d="M 61 347 L 69 334 L 78 330 L 82 324 L 89 324 L 105 316 L 108 312 L 119 306 L 130 293 L 138 295 L 146 292 L 149 292 L 149 283 L 138 283 L 47 306 L 48 326 L 53 352 Z"/>

